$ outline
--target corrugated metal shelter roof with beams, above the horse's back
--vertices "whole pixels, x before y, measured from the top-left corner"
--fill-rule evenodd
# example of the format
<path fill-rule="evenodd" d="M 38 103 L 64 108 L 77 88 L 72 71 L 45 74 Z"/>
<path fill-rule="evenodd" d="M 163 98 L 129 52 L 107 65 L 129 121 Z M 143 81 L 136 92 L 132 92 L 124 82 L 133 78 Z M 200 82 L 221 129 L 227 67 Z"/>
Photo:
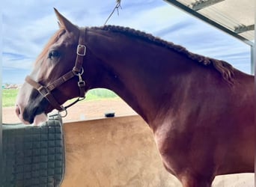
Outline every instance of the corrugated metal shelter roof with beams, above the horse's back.
<path fill-rule="evenodd" d="M 222 31 L 255 45 L 255 0 L 165 0 Z"/>

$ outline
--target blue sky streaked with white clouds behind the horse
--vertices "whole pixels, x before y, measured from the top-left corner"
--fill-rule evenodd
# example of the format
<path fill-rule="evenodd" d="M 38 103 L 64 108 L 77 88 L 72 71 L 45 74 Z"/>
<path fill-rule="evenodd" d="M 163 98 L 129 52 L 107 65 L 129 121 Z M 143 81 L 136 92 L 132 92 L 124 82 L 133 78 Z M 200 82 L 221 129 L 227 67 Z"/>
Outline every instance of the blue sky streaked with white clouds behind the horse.
<path fill-rule="evenodd" d="M 250 73 L 250 48 L 162 0 L 122 0 L 108 24 L 124 25 L 185 46 L 189 51 L 228 61 Z M 100 26 L 115 0 L 3 0 L 2 83 L 20 84 L 49 38 L 58 30 L 56 7 L 79 26 Z"/>

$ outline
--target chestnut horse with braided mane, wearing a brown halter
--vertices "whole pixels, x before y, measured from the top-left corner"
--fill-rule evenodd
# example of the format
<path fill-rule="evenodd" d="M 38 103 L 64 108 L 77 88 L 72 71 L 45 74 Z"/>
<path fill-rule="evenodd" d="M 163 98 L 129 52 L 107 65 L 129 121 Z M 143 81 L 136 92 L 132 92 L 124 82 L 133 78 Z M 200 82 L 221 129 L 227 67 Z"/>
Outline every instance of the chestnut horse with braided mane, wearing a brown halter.
<path fill-rule="evenodd" d="M 166 170 L 183 187 L 254 172 L 254 76 L 131 28 L 79 28 L 55 10 L 60 29 L 25 79 L 16 102 L 39 123 L 93 88 L 115 91 L 150 126 Z"/>

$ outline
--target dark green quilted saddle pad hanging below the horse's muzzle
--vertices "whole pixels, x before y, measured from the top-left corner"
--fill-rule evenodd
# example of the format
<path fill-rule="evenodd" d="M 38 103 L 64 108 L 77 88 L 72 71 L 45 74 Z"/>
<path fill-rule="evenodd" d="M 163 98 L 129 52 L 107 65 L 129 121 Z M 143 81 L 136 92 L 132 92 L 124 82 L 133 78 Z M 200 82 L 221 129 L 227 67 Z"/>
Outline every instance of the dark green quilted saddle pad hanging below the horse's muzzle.
<path fill-rule="evenodd" d="M 64 134 L 59 115 L 40 126 L 3 124 L 1 187 L 60 186 L 64 177 Z"/>

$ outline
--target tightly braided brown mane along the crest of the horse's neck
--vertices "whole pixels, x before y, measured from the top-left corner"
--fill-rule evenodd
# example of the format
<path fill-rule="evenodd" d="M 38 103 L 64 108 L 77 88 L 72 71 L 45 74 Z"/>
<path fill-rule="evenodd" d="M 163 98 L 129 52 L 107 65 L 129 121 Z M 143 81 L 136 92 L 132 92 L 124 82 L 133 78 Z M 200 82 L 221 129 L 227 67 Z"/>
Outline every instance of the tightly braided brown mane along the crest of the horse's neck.
<path fill-rule="evenodd" d="M 204 66 L 212 65 L 219 73 L 222 74 L 223 79 L 230 84 L 233 84 L 233 76 L 234 76 L 234 68 L 231 64 L 228 64 L 226 61 L 219 61 L 214 58 L 207 58 L 203 55 L 198 55 L 192 52 L 189 52 L 183 46 L 175 45 L 172 42 L 167 42 L 165 40 L 160 39 L 159 37 L 154 37 L 152 34 L 147 34 L 142 31 L 135 30 L 133 28 L 121 27 L 115 25 L 104 25 L 103 27 L 94 27 L 95 29 L 102 29 L 104 31 L 112 31 L 123 33 L 129 37 L 137 37 L 141 40 L 146 40 L 147 42 L 154 43 L 158 46 L 163 46 L 165 48 L 174 50 L 175 52 L 179 52 L 182 55 L 187 56 L 193 61 L 197 61 L 199 64 Z"/>

